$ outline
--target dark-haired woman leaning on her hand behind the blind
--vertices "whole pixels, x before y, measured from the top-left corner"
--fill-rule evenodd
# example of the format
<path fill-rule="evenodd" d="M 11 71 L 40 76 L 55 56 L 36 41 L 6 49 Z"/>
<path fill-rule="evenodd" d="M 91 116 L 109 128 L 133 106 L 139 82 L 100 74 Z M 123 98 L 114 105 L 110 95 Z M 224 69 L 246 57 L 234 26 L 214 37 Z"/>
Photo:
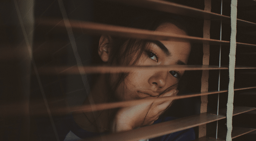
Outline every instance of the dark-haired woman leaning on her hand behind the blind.
<path fill-rule="evenodd" d="M 141 14 L 130 27 L 187 35 L 177 16 L 151 13 Z M 155 41 L 120 38 L 102 35 L 97 53 L 100 60 L 109 66 L 158 66 L 186 65 L 191 44 L 177 41 Z M 178 93 L 178 82 L 184 71 L 132 71 L 119 74 L 100 74 L 91 87 L 91 98 L 95 104 L 110 103 L 151 97 L 174 96 Z M 91 102 L 87 98 L 84 105 Z M 108 109 L 96 112 L 73 112 L 76 129 L 70 130 L 65 140 L 81 139 L 102 133 L 117 133 L 145 125 L 173 119 L 158 119 L 171 106 L 172 101 L 142 103 L 136 106 Z M 158 119 L 158 120 L 157 120 Z M 74 125 L 74 123 L 72 123 Z M 80 129 L 79 129 L 80 128 Z M 81 129 L 82 128 L 82 129 Z M 75 131 L 79 130 L 79 131 Z M 67 133 L 67 132 L 66 132 Z M 69 138 L 71 137 L 71 138 Z M 180 137 L 183 137 L 181 139 Z M 155 140 L 194 140 L 193 129 L 155 138 Z M 153 139 L 152 139 L 153 140 Z"/>

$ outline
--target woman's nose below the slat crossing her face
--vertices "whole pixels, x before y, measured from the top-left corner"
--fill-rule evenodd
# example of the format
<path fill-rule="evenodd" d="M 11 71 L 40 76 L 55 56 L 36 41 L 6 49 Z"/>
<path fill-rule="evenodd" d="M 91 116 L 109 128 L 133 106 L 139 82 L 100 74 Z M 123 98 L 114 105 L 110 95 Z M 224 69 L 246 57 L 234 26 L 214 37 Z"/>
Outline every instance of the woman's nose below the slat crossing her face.
<path fill-rule="evenodd" d="M 169 72 L 156 72 L 149 78 L 149 84 L 152 86 L 153 91 L 165 87 L 168 73 Z"/>

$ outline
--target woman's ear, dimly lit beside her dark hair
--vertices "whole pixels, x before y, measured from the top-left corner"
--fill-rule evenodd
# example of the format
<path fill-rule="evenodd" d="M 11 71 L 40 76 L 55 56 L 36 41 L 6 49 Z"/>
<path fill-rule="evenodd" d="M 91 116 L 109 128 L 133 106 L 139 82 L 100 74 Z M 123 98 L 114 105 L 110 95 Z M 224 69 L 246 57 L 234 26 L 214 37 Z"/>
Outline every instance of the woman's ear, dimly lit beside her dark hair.
<path fill-rule="evenodd" d="M 109 56 L 109 41 L 110 37 L 109 36 L 104 36 L 102 35 L 100 37 L 99 41 L 99 47 L 98 47 L 98 53 L 100 55 L 100 58 L 103 62 L 108 61 L 108 56 Z"/>

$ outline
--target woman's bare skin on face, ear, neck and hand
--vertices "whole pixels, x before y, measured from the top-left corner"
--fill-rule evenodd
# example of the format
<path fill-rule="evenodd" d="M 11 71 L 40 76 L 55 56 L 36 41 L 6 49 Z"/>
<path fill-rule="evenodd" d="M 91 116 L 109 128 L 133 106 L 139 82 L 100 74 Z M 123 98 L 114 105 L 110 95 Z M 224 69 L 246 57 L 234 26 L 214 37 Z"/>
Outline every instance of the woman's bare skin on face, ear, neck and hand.
<path fill-rule="evenodd" d="M 186 35 L 183 30 L 172 23 L 163 23 L 157 27 L 156 31 Z M 109 39 L 106 36 L 102 36 L 99 41 L 98 53 L 104 62 L 108 62 L 108 55 L 111 51 L 107 46 L 108 42 Z M 190 54 L 190 49 L 190 43 L 186 42 L 153 42 L 144 51 L 136 65 L 185 65 Z M 133 71 L 117 87 L 115 97 L 119 101 L 126 101 L 174 96 L 178 93 L 177 84 L 183 74 L 184 71 L 171 69 L 160 72 L 151 70 Z M 109 85 L 106 84 L 105 79 L 105 76 L 101 75 L 99 81 L 96 82 L 94 88 L 91 90 L 91 96 L 96 104 L 107 102 L 106 97 L 108 93 L 106 93 L 106 89 Z M 115 79 L 117 79 L 117 76 L 111 74 L 110 86 Z M 86 99 L 84 104 L 90 104 L 89 100 Z M 108 128 L 115 133 L 153 124 L 171 104 L 172 101 L 145 102 L 136 106 L 120 108 L 117 112 L 113 110 L 97 111 L 94 115 L 93 113 L 87 112 L 85 113 L 87 118 L 81 113 L 73 113 L 73 117 L 77 124 L 87 131 L 104 132 Z M 112 112 L 115 115 L 113 119 L 109 119 L 109 115 Z"/>

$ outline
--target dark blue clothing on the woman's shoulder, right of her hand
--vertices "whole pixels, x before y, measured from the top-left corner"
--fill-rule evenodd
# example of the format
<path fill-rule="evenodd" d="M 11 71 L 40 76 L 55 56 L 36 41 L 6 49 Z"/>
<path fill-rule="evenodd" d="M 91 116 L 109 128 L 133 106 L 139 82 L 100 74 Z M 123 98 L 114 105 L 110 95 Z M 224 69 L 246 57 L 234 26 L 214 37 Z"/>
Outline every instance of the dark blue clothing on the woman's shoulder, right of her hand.
<path fill-rule="evenodd" d="M 175 117 L 162 117 L 157 119 L 153 124 L 171 121 L 176 119 Z M 195 140 L 195 131 L 193 128 L 177 131 L 175 133 L 167 134 L 164 136 L 149 139 L 149 141 L 191 141 Z"/>

